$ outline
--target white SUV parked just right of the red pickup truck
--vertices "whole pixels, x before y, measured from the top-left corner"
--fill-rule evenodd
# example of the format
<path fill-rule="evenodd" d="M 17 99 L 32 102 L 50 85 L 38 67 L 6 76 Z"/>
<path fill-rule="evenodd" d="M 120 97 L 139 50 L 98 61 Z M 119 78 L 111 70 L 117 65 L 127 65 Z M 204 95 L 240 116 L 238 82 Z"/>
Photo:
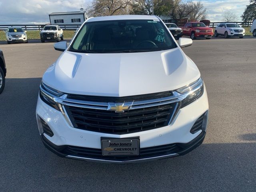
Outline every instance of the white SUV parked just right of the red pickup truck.
<path fill-rule="evenodd" d="M 221 23 L 215 28 L 214 36 L 223 35 L 225 38 L 239 37 L 244 38 L 245 29 L 236 23 Z"/>

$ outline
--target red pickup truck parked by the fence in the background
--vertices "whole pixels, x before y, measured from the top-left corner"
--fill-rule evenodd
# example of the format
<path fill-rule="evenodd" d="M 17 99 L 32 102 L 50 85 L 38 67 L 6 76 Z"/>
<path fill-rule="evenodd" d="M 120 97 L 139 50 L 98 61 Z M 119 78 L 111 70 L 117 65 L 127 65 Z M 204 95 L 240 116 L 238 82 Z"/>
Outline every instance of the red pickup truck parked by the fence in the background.
<path fill-rule="evenodd" d="M 213 29 L 206 27 L 202 22 L 187 22 L 183 27 L 183 35 L 190 36 L 193 40 L 196 38 L 210 39 L 213 35 Z"/>

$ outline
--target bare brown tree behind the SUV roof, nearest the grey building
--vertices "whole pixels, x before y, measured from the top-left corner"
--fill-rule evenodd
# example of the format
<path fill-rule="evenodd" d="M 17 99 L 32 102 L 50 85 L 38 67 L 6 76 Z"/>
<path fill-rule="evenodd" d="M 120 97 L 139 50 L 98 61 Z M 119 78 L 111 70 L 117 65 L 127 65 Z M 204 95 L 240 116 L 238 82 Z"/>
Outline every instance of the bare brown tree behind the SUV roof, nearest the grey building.
<path fill-rule="evenodd" d="M 132 0 L 93 0 L 87 11 L 90 16 L 110 16 L 127 14 L 127 6 Z"/>

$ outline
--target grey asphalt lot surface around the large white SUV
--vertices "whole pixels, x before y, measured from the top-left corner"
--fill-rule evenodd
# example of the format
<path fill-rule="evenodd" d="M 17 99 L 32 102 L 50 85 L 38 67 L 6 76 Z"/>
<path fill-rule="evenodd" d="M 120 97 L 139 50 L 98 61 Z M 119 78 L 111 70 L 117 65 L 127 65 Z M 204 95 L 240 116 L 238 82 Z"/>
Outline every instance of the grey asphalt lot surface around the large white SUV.
<path fill-rule="evenodd" d="M 64 159 L 44 148 L 36 124 L 52 42 L 0 44 L 8 75 L 0 95 L 0 191 L 256 191 L 256 38 L 195 40 L 184 52 L 207 87 L 204 143 L 185 156 L 143 164 Z"/>

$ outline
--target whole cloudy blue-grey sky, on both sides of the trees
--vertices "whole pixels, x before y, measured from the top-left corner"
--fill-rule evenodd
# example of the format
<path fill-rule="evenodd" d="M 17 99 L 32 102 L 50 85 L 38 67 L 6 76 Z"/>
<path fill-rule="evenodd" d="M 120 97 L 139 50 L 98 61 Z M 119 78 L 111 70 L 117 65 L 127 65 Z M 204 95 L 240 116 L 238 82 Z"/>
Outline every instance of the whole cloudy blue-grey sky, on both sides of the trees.
<path fill-rule="evenodd" d="M 79 11 L 92 0 L 0 0 L 0 24 L 46 24 L 52 12 Z M 196 2 L 196 0 L 194 0 Z M 211 22 L 222 21 L 226 10 L 234 12 L 241 21 L 249 0 L 201 0 Z"/>

